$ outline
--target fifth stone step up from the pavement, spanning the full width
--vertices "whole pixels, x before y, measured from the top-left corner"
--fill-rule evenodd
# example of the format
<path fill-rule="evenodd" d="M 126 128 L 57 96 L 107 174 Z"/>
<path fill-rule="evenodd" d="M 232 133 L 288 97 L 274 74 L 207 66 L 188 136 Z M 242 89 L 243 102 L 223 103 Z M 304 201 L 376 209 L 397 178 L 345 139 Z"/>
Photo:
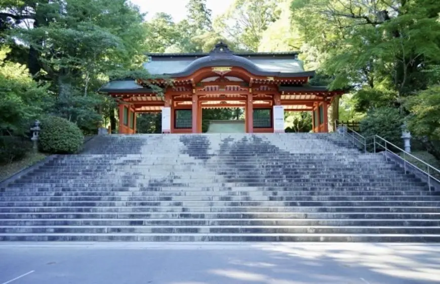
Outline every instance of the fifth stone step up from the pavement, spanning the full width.
<path fill-rule="evenodd" d="M 162 206 L 162 207 L 0 207 L 0 213 L 440 213 L 439 207 L 429 206 L 321 206 L 321 207 L 245 207 L 245 206 Z"/>

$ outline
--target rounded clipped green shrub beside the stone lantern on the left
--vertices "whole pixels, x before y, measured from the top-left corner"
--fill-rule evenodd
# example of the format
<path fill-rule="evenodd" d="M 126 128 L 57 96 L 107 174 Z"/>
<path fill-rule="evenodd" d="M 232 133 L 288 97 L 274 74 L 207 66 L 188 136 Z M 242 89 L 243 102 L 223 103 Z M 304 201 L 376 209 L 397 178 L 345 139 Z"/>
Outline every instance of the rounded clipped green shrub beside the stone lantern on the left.
<path fill-rule="evenodd" d="M 83 133 L 69 120 L 58 116 L 42 119 L 38 145 L 43 152 L 71 154 L 79 151 L 83 142 Z"/>

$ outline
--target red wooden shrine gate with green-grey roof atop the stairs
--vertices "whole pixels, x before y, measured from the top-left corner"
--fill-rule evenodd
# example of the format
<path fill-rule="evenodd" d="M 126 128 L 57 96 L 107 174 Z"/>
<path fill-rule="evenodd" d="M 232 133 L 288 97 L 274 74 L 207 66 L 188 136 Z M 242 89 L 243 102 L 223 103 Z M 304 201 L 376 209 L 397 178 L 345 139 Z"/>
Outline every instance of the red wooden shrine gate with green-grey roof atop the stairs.
<path fill-rule="evenodd" d="M 149 54 L 144 68 L 157 79 L 100 89 L 118 100 L 121 134 L 136 133 L 140 112 L 162 112 L 164 133 L 201 133 L 202 109 L 222 107 L 245 109 L 247 133 L 284 132 L 284 111 L 312 111 L 313 132 L 328 132 L 329 105 L 342 94 L 308 86 L 315 72 L 297 52 L 233 53 L 219 43 L 208 54 Z"/>

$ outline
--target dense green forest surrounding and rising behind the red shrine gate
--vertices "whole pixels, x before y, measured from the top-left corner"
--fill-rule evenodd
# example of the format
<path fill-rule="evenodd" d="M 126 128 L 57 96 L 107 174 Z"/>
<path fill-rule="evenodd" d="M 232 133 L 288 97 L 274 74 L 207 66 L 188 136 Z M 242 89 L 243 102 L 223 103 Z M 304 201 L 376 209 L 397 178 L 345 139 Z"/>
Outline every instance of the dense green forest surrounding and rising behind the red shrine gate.
<path fill-rule="evenodd" d="M 146 53 L 209 52 L 222 40 L 236 52 L 300 51 L 317 70 L 311 85 L 349 90 L 330 108 L 332 125 L 358 121 L 366 136 L 398 145 L 406 126 L 418 150 L 440 159 L 439 13 L 438 0 L 235 0 L 212 18 L 205 0 L 190 0 L 174 22 L 166 13 L 145 21 L 128 0 L 0 0 L 0 146 L 29 140 L 32 121 L 48 114 L 84 135 L 115 129 L 115 102 L 97 92 L 104 83 L 148 76 Z M 140 115 L 138 130 L 160 132 L 160 120 Z M 308 112 L 286 121 L 288 131 L 311 128 Z M 3 162 L 19 159 L 10 152 Z"/>

